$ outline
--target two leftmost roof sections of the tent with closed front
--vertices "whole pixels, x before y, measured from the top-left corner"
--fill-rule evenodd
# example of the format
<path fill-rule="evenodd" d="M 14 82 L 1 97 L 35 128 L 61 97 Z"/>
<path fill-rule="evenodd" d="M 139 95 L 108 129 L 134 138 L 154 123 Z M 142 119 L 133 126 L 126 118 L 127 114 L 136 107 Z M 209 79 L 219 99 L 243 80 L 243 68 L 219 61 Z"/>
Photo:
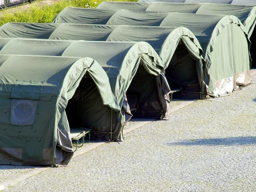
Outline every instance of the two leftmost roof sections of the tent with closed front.
<path fill-rule="evenodd" d="M 129 20 L 133 20 L 134 24 L 137 23 L 137 26 L 159 26 L 167 15 L 169 14 L 164 12 L 145 13 L 131 10 L 66 7 L 55 17 L 52 23 L 131 25 L 130 23 L 126 23 L 125 20 L 122 20 L 122 18 L 128 18 L 128 22 Z"/>

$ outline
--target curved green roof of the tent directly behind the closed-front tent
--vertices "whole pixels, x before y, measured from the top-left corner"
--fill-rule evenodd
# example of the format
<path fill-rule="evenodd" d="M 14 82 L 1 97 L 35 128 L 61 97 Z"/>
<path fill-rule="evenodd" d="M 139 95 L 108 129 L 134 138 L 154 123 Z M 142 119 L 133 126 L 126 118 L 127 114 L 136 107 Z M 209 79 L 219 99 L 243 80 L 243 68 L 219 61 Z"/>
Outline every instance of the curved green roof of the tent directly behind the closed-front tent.
<path fill-rule="evenodd" d="M 202 15 L 234 15 L 245 26 L 249 37 L 253 32 L 256 19 L 256 6 L 241 6 L 213 3 L 137 3 L 137 2 L 102 2 L 97 9 L 128 9 L 151 12 L 179 12 Z"/>

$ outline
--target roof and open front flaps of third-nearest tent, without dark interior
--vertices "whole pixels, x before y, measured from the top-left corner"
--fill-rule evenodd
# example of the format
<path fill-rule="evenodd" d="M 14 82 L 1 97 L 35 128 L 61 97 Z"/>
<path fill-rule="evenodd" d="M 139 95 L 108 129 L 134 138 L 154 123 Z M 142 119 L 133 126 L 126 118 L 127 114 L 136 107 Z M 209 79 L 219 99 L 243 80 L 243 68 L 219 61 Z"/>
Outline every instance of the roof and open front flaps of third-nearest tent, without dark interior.
<path fill-rule="evenodd" d="M 53 28 L 55 26 L 55 29 Z M 38 32 L 40 29 L 40 32 Z M 95 36 L 93 34 L 96 34 Z M 107 25 L 81 25 L 64 23 L 6 23 L 0 27 L 0 36 L 8 37 L 30 37 L 30 38 L 53 38 L 53 39 L 81 39 L 94 41 L 145 41 L 150 44 L 160 55 L 164 69 L 169 66 L 171 58 L 176 52 L 180 41 L 187 47 L 190 57 L 196 61 L 198 66 L 197 76 L 199 82 L 203 83 L 202 95 L 207 95 L 207 88 L 203 78 L 203 61 L 201 58 L 202 48 L 195 38 L 195 35 L 185 27 L 152 27 L 152 26 L 107 26 Z M 93 39 L 92 39 L 93 37 Z M 181 60 L 180 60 L 181 62 Z M 185 62 L 185 61 L 184 61 Z M 186 60 L 186 64 L 189 64 Z M 186 71 L 187 73 L 190 73 Z M 168 80 L 172 76 L 166 73 Z M 183 80 L 182 80 L 183 79 Z M 186 83 L 183 82 L 186 79 Z M 188 78 L 181 78 L 180 87 L 186 91 L 186 85 L 193 81 Z M 191 89 L 190 89 L 191 90 Z"/>

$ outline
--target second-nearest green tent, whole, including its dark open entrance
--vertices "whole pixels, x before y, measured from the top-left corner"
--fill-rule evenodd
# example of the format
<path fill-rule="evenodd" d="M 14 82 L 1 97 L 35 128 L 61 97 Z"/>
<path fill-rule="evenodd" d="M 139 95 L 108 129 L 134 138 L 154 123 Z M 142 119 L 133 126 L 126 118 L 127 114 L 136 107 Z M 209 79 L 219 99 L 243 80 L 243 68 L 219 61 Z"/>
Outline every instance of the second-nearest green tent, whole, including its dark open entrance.
<path fill-rule="evenodd" d="M 162 73 L 162 61 L 148 43 L 11 38 L 0 39 L 0 44 L 0 54 L 97 58 L 108 75 L 111 90 L 121 108 L 121 113 L 110 113 L 113 119 L 116 116 L 118 119 L 118 122 L 112 122 L 113 140 L 122 141 L 122 126 L 131 114 L 155 119 L 166 116 L 170 88 Z M 97 118 L 101 116 L 97 115 Z M 109 131 L 100 128 L 96 131 L 105 132 L 105 138 L 110 135 Z"/>

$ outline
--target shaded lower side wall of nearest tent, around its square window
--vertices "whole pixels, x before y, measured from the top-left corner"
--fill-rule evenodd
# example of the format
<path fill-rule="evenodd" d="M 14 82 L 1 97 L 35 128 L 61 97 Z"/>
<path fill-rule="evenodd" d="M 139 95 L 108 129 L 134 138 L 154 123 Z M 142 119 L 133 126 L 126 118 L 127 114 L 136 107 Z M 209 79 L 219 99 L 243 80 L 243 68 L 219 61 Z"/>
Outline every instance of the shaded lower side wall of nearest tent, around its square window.
<path fill-rule="evenodd" d="M 4 128 L 0 134 L 1 165 L 33 166 L 55 164 L 52 143 L 55 143 L 57 138 L 52 130 L 55 130 L 57 99 L 58 97 L 56 96 L 52 97 L 51 103 L 39 100 L 37 105 L 39 114 L 35 115 L 33 125 L 22 126 L 21 129 L 20 126 L 11 124 L 10 106 L 12 105 L 12 99 L 0 98 L 0 109 L 6 111 L 0 116 L 0 122 Z M 72 157 L 73 153 L 66 155 L 71 155 Z"/>

